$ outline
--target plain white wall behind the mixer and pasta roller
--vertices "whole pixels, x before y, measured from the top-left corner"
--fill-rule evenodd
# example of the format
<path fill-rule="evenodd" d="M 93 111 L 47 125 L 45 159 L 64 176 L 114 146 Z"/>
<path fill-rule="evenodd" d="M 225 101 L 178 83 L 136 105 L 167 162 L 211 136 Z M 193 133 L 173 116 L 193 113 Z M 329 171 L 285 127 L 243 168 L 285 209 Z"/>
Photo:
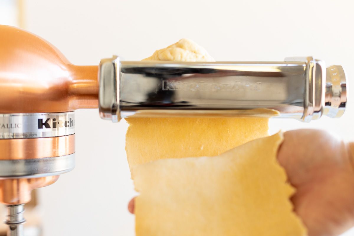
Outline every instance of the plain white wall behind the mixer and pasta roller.
<path fill-rule="evenodd" d="M 113 54 L 140 60 L 155 49 L 190 38 L 217 61 L 314 56 L 327 65 L 343 65 L 350 78 L 352 2 L 27 0 L 25 28 L 80 65 L 98 64 Z M 322 117 L 308 124 L 277 119 L 270 121 L 270 130 L 322 128 L 353 139 L 350 102 L 349 97 L 341 119 Z M 78 110 L 76 125 L 76 168 L 40 189 L 44 235 L 134 235 L 134 217 L 127 211 L 135 192 L 124 150 L 125 121 L 111 123 L 101 120 L 96 109 Z"/>

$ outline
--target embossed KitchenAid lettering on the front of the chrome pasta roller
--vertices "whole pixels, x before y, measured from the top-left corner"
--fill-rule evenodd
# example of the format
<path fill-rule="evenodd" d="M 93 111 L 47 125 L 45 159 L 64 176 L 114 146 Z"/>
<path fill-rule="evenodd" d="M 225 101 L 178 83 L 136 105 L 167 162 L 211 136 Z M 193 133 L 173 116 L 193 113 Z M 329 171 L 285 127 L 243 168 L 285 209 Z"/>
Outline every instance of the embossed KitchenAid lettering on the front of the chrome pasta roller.
<path fill-rule="evenodd" d="M 164 91 L 261 91 L 261 82 L 233 81 L 232 84 L 162 80 Z"/>

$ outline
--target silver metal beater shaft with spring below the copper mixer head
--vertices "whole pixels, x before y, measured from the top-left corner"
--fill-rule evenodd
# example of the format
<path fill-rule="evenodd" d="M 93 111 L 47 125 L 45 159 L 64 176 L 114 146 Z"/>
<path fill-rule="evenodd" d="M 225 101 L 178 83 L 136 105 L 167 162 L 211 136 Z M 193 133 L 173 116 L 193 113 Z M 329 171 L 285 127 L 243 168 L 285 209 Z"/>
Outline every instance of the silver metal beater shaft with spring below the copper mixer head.
<path fill-rule="evenodd" d="M 23 217 L 24 204 L 21 205 L 7 205 L 7 219 L 5 224 L 8 225 L 7 236 L 23 236 Z"/>

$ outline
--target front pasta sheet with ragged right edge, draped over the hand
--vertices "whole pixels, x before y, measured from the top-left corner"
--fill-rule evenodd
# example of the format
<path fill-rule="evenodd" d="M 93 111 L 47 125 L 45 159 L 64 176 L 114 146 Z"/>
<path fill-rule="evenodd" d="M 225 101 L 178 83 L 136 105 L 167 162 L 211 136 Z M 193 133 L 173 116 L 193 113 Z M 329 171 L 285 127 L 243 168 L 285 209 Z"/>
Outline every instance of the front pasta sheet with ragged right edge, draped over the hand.
<path fill-rule="evenodd" d="M 134 166 L 136 235 L 306 235 L 276 160 L 281 141 L 278 133 L 216 157 Z"/>

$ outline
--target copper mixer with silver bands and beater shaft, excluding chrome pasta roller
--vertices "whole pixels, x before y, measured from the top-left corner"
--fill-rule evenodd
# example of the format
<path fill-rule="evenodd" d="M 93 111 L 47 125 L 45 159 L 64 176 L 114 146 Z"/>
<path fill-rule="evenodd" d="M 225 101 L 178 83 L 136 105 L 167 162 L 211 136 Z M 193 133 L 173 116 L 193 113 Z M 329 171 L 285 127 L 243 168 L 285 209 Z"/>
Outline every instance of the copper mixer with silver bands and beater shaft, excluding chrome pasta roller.
<path fill-rule="evenodd" d="M 22 235 L 31 191 L 74 167 L 73 111 L 98 107 L 98 66 L 73 65 L 27 31 L 0 32 L 0 203 L 10 205 L 8 235 Z"/>

